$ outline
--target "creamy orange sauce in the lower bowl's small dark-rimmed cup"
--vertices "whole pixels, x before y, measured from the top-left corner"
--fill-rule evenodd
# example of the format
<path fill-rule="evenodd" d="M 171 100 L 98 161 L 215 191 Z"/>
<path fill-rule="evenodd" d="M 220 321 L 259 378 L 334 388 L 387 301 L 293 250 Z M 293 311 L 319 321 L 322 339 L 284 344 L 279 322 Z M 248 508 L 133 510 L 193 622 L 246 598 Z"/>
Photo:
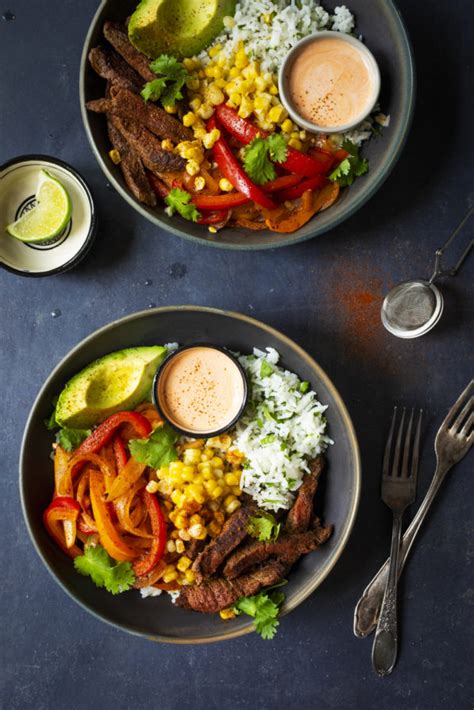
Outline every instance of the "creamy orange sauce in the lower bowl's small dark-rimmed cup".
<path fill-rule="evenodd" d="M 238 415 L 245 397 L 242 374 L 225 353 L 206 346 L 183 350 L 157 383 L 163 414 L 196 435 L 218 431 Z"/>

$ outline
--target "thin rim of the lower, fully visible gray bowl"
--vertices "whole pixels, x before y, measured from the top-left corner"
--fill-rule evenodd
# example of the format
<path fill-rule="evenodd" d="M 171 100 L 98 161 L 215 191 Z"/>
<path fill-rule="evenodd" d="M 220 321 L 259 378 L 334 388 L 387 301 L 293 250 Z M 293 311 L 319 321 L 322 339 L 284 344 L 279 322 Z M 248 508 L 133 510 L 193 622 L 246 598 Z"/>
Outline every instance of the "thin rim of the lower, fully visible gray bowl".
<path fill-rule="evenodd" d="M 114 628 L 119 628 L 122 631 L 126 631 L 128 633 L 134 634 L 136 636 L 140 636 L 142 638 L 147 638 L 151 641 L 160 641 L 160 642 L 166 642 L 166 643 L 172 643 L 172 644 L 178 644 L 178 645 L 183 645 L 183 644 L 197 644 L 197 643 L 213 643 L 216 641 L 225 641 L 228 639 L 233 639 L 237 638 L 239 636 L 244 636 L 245 634 L 251 633 L 254 631 L 253 623 L 249 620 L 249 623 L 245 625 L 244 627 L 236 630 L 229 629 L 228 631 L 224 631 L 223 633 L 217 635 L 217 636 L 204 636 L 202 638 L 195 638 L 195 637 L 180 637 L 180 638 L 174 638 L 174 637 L 168 637 L 168 636 L 163 636 L 162 634 L 155 634 L 155 633 L 149 633 L 149 632 L 144 632 L 142 628 L 139 628 L 138 626 L 132 626 L 129 624 L 126 624 L 124 622 L 117 622 L 113 621 L 111 618 L 103 616 L 101 613 L 99 613 L 91 604 L 79 599 L 67 586 L 64 584 L 58 576 L 55 574 L 53 568 L 50 566 L 49 562 L 47 561 L 45 555 L 43 555 L 43 552 L 40 548 L 39 542 L 37 542 L 35 535 L 33 533 L 32 526 L 30 525 L 30 521 L 26 512 L 26 500 L 25 500 L 25 483 L 26 483 L 26 476 L 25 476 L 25 457 L 26 457 L 26 448 L 28 445 L 28 438 L 29 438 L 29 431 L 32 426 L 33 420 L 36 418 L 36 409 L 38 406 L 41 404 L 41 401 L 44 396 L 45 390 L 48 388 L 50 382 L 60 373 L 62 368 L 64 367 L 65 364 L 75 355 L 77 354 L 80 350 L 82 350 L 85 346 L 87 346 L 89 343 L 91 343 L 95 338 L 98 336 L 104 335 L 109 331 L 112 331 L 114 328 L 116 328 L 118 325 L 124 325 L 126 323 L 130 323 L 131 321 L 134 320 L 140 320 L 141 318 L 144 317 L 149 317 L 152 314 L 159 314 L 159 313 L 169 313 L 169 312 L 176 312 L 176 311 L 181 311 L 181 312 L 194 312 L 194 313 L 209 313 L 209 314 L 215 314 L 218 316 L 225 316 L 225 317 L 230 317 L 234 318 L 239 321 L 243 321 L 245 323 L 249 323 L 269 335 L 275 337 L 277 340 L 283 340 L 286 345 L 288 345 L 292 350 L 294 350 L 299 357 L 301 357 L 306 363 L 309 365 L 309 367 L 316 373 L 318 378 L 321 378 L 321 380 L 324 382 L 324 385 L 327 387 L 327 389 L 330 391 L 332 397 L 334 398 L 334 401 L 336 403 L 336 407 L 339 410 L 343 423 L 348 435 L 349 439 L 349 444 L 350 444 L 350 449 L 353 453 L 354 456 L 354 479 L 353 479 L 353 490 L 352 490 L 352 499 L 351 499 L 351 504 L 350 504 L 350 511 L 347 520 L 345 521 L 343 528 L 342 528 L 342 536 L 341 539 L 339 540 L 336 548 L 333 551 L 333 554 L 331 558 L 328 560 L 327 564 L 313 577 L 311 577 L 306 584 L 304 584 L 301 589 L 298 591 L 298 593 L 295 596 L 295 599 L 290 603 L 290 604 L 284 604 L 283 610 L 282 610 L 282 616 L 288 614 L 290 611 L 293 611 L 299 604 L 301 604 L 310 594 L 312 594 L 319 586 L 320 584 L 326 579 L 326 577 L 329 575 L 329 573 L 332 571 L 334 566 L 336 565 L 337 561 L 341 557 L 344 548 L 346 547 L 346 544 L 349 540 L 350 534 L 352 532 L 354 522 L 357 516 L 357 510 L 359 507 L 359 501 L 360 501 L 360 491 L 361 491 L 361 460 L 360 460 L 360 450 L 359 450 L 359 445 L 357 442 L 357 437 L 354 429 L 354 425 L 352 423 L 352 420 L 350 418 L 349 412 L 347 411 L 346 405 L 344 404 L 341 395 L 339 394 L 338 390 L 328 377 L 328 375 L 325 373 L 325 371 L 321 368 L 321 366 L 297 343 L 295 343 L 294 340 L 291 338 L 287 337 L 277 329 L 273 328 L 270 325 L 267 325 L 266 323 L 262 323 L 261 321 L 257 320 L 256 318 L 252 318 L 251 316 L 247 316 L 243 313 L 237 313 L 235 311 L 227 311 L 227 310 L 221 310 L 219 308 L 211 308 L 208 306 L 193 306 L 193 305 L 182 305 L 182 306 L 162 306 L 158 308 L 153 308 L 153 309 L 146 309 L 142 311 L 137 311 L 135 313 L 131 313 L 130 315 L 123 316 L 122 318 L 118 318 L 117 320 L 114 320 L 110 323 L 107 323 L 106 325 L 98 328 L 95 330 L 93 333 L 90 335 L 86 336 L 83 338 L 77 345 L 75 345 L 71 350 L 69 350 L 66 355 L 61 358 L 60 362 L 56 365 L 56 367 L 52 370 L 50 375 L 47 377 L 45 380 L 44 384 L 42 385 L 41 389 L 39 390 L 38 394 L 35 397 L 35 400 L 33 402 L 33 405 L 31 406 L 30 413 L 28 415 L 28 419 L 25 425 L 25 429 L 23 432 L 23 437 L 21 441 L 21 447 L 20 447 L 20 458 L 19 458 L 19 488 L 20 488 L 20 501 L 21 501 L 21 509 L 23 513 L 23 518 L 25 520 L 26 528 L 28 530 L 28 534 L 30 536 L 30 539 L 33 543 L 33 546 L 42 560 L 43 564 L 45 565 L 46 569 L 48 572 L 51 574 L 53 579 L 56 581 L 57 584 L 66 592 L 66 594 L 73 599 L 77 604 L 79 604 L 83 609 L 86 611 L 90 612 L 93 616 L 95 616 L 97 619 L 100 621 L 103 621 L 105 623 L 108 623 L 109 625 L 113 626 Z"/>

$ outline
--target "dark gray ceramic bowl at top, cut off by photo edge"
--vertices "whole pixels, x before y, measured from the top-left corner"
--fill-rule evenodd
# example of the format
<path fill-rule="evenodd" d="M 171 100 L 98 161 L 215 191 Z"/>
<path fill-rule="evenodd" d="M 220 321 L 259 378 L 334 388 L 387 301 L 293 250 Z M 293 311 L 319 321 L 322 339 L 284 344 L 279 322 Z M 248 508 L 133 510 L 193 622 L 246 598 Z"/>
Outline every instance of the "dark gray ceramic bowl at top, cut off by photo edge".
<path fill-rule="evenodd" d="M 323 5 L 333 9 L 340 4 L 328 0 Z M 392 0 L 351 0 L 349 9 L 356 15 L 358 33 L 362 34 L 373 52 L 382 77 L 380 104 L 391 121 L 383 137 L 370 141 L 364 149 L 369 159 L 370 171 L 344 190 L 337 203 L 316 215 L 308 224 L 293 234 L 251 232 L 246 229 L 223 229 L 218 235 L 206 227 L 186 222 L 179 217 L 168 217 L 162 208 L 151 209 L 141 205 L 129 193 L 120 168 L 108 158 L 110 150 L 103 116 L 85 109 L 85 102 L 104 95 L 104 81 L 97 77 L 87 61 L 92 47 L 103 42 L 102 26 L 106 19 L 123 21 L 133 12 L 137 0 L 102 0 L 87 33 L 80 70 L 80 100 L 84 126 L 89 142 L 107 179 L 140 214 L 157 227 L 162 227 L 179 237 L 225 249 L 271 249 L 296 244 L 332 229 L 356 212 L 382 185 L 395 165 L 410 128 L 414 97 L 415 76 L 413 56 L 401 16 Z"/>

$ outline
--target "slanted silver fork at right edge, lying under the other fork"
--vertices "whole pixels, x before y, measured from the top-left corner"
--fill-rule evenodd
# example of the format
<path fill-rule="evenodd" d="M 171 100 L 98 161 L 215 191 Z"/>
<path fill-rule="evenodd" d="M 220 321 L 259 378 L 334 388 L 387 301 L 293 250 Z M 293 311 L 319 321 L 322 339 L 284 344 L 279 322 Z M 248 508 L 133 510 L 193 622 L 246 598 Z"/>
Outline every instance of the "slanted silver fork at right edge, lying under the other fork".
<path fill-rule="evenodd" d="M 471 380 L 449 410 L 436 435 L 436 471 L 423 502 L 403 536 L 400 549 L 399 575 L 446 474 L 464 458 L 474 443 L 474 432 L 472 431 L 474 424 L 474 415 L 472 413 L 474 409 L 473 389 L 474 380 Z M 354 613 L 354 634 L 359 638 L 365 638 L 376 627 L 387 583 L 388 563 L 389 560 L 382 565 L 365 588 L 357 603 Z"/>

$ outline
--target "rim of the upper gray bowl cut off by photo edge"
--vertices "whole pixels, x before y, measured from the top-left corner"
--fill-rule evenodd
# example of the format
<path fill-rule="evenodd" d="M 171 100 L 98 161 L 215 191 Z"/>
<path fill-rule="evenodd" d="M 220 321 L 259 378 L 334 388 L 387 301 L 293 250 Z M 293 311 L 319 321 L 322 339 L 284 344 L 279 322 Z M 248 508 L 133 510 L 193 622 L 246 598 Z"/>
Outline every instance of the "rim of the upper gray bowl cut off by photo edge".
<path fill-rule="evenodd" d="M 94 16 L 91 20 L 91 23 L 89 25 L 89 28 L 87 30 L 87 34 L 84 40 L 84 45 L 82 49 L 82 54 L 81 54 L 81 62 L 80 62 L 80 68 L 79 68 L 79 103 L 81 107 L 81 116 L 82 116 L 82 123 L 84 126 L 84 130 L 87 135 L 87 140 L 92 148 L 92 152 L 95 155 L 95 158 L 104 173 L 105 177 L 107 180 L 110 182 L 111 185 L 114 186 L 115 190 L 123 197 L 123 199 L 135 209 L 136 212 L 139 212 L 145 219 L 147 219 L 151 224 L 153 224 L 155 227 L 159 227 L 160 229 L 163 229 L 166 232 L 169 232 L 171 234 L 174 234 L 175 236 L 181 237 L 182 239 L 186 239 L 187 241 L 194 242 L 195 244 L 201 244 L 204 246 L 209 246 L 209 247 L 214 247 L 216 249 L 229 249 L 231 251 L 257 251 L 257 250 L 263 250 L 263 249 L 279 249 L 281 247 L 286 247 L 286 246 L 291 246 L 293 244 L 300 244 L 303 242 L 308 241 L 309 239 L 313 239 L 314 237 L 317 237 L 321 234 L 324 234 L 335 227 L 339 226 L 343 222 L 345 222 L 347 219 L 349 219 L 353 214 L 355 214 L 363 205 L 370 200 L 371 197 L 379 190 L 379 188 L 383 185 L 385 180 L 388 178 L 390 173 L 392 172 L 393 168 L 395 167 L 396 163 L 398 162 L 401 152 L 403 150 L 403 147 L 405 146 L 405 143 L 408 138 L 408 134 L 410 131 L 410 126 L 413 120 L 413 113 L 414 113 L 414 108 L 415 108 L 415 99 L 416 99 L 416 74 L 415 74 L 415 60 L 414 60 L 414 54 L 413 54 L 413 47 L 412 43 L 410 40 L 410 37 L 408 35 L 408 30 L 406 28 L 405 22 L 403 20 L 402 14 L 400 10 L 398 9 L 398 6 L 395 3 L 395 0 L 380 0 L 381 2 L 385 3 L 385 5 L 388 6 L 388 9 L 391 12 L 391 15 L 394 19 L 394 21 L 397 22 L 398 24 L 398 40 L 399 42 L 403 45 L 402 49 L 402 54 L 405 58 L 406 61 L 406 74 L 407 74 L 407 105 L 405 108 L 404 115 L 402 117 L 402 121 L 399 127 L 399 130 L 394 136 L 394 146 L 393 150 L 391 153 L 390 158 L 384 163 L 379 175 L 376 177 L 375 181 L 373 184 L 367 188 L 365 192 L 363 192 L 361 195 L 359 195 L 356 199 L 355 202 L 349 206 L 346 207 L 345 209 L 342 210 L 341 214 L 333 220 L 333 222 L 329 225 L 326 226 L 319 226 L 317 222 L 315 223 L 315 228 L 310 231 L 309 234 L 306 235 L 299 235 L 295 236 L 295 233 L 292 235 L 281 235 L 281 239 L 276 242 L 276 243 L 271 243 L 271 244 L 231 244 L 227 242 L 222 242 L 219 240 L 210 240 L 210 239 L 204 239 L 203 237 L 197 237 L 194 236 L 193 234 L 189 234 L 188 232 L 185 231 L 184 228 L 180 228 L 179 226 L 175 226 L 174 224 L 170 225 L 166 222 L 164 222 L 160 216 L 160 214 L 157 212 L 156 214 L 153 213 L 151 214 L 149 210 L 145 209 L 143 205 L 141 205 L 135 198 L 128 192 L 127 189 L 125 189 L 119 182 L 119 180 L 115 177 L 114 173 L 112 170 L 109 168 L 105 157 L 102 156 L 100 153 L 98 147 L 96 146 L 96 143 L 94 141 L 94 137 L 92 135 L 92 130 L 90 127 L 89 123 L 89 115 L 88 111 L 86 109 L 86 97 L 85 97 L 85 77 L 86 77 L 86 72 L 90 70 L 89 64 L 88 64 L 88 49 L 89 49 L 89 44 L 91 41 L 91 37 L 93 33 L 96 30 L 96 25 L 99 20 L 100 15 L 102 14 L 105 6 L 110 2 L 110 0 L 101 0 L 101 3 L 99 7 L 97 8 L 96 12 L 94 13 Z M 178 225 L 178 221 L 177 221 Z"/>

